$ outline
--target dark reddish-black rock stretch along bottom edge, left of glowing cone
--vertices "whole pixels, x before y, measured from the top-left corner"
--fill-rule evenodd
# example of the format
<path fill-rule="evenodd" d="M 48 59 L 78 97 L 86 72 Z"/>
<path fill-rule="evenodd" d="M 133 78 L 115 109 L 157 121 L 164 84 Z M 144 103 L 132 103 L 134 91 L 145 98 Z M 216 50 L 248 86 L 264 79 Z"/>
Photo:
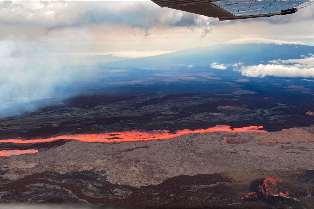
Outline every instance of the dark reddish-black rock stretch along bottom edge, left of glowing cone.
<path fill-rule="evenodd" d="M 15 201 L 24 203 L 36 199 L 41 203 L 74 203 L 76 206 L 89 203 L 118 208 L 218 208 L 234 202 L 230 198 L 234 192 L 230 183 L 227 176 L 215 173 L 180 175 L 158 185 L 136 188 L 112 184 L 106 179 L 106 171 L 92 169 L 28 175 L 0 184 L 0 196 L 2 202 L 9 202 L 14 196 Z"/>

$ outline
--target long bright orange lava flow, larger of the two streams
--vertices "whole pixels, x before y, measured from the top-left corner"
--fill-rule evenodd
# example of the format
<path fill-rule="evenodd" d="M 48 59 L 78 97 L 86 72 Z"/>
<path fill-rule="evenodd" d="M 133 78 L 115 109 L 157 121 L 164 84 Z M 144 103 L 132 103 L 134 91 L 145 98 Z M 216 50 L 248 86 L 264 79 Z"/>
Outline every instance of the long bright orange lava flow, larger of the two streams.
<path fill-rule="evenodd" d="M 15 143 L 15 144 L 28 144 L 28 143 L 42 143 L 51 142 L 60 139 L 77 140 L 82 142 L 134 142 L 134 141 L 146 141 L 146 140 L 158 140 L 158 139 L 169 139 L 182 136 L 190 133 L 209 133 L 209 132 L 260 132 L 267 133 L 265 130 L 259 130 L 263 126 L 247 126 L 243 128 L 233 128 L 230 126 L 218 125 L 208 129 L 197 129 L 191 131 L 189 129 L 179 130 L 176 133 L 169 133 L 167 130 L 154 130 L 149 132 L 144 132 L 142 130 L 124 131 L 124 132 L 111 132 L 111 133 L 100 133 L 100 134 L 67 134 L 51 138 L 37 138 L 24 140 L 22 138 L 15 139 L 2 139 L 0 143 Z"/>

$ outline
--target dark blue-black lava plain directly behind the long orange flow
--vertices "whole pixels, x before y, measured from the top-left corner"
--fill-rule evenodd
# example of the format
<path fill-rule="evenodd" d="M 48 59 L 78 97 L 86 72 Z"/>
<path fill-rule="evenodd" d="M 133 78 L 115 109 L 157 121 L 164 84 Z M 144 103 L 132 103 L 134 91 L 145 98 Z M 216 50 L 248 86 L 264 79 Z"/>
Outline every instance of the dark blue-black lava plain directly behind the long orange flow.
<path fill-rule="evenodd" d="M 46 107 L 27 116 L 1 119 L 0 134 L 1 139 L 30 139 L 138 129 L 173 133 L 216 125 L 263 126 L 271 132 L 314 123 L 312 116 L 304 114 L 304 109 L 311 107 L 308 102 L 285 101 L 287 105 L 277 105 L 279 102 L 264 97 L 208 94 L 88 95 L 69 99 L 65 106 Z M 224 106 L 232 108 L 221 108 Z"/>

